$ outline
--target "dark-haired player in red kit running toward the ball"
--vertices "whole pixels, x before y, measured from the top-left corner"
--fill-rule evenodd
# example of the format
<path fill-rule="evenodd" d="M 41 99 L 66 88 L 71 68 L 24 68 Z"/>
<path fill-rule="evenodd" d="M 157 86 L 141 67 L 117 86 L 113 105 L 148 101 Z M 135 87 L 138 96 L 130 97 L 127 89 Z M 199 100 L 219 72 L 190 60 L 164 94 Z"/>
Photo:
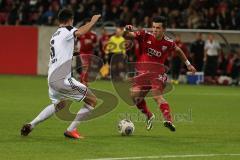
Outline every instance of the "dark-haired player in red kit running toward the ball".
<path fill-rule="evenodd" d="M 131 97 L 139 110 L 146 115 L 146 129 L 151 130 L 154 114 L 148 109 L 144 97 L 149 91 L 152 92 L 163 117 L 164 126 L 175 131 L 168 102 L 163 98 L 163 90 L 166 85 L 167 76 L 165 68 L 161 67 L 168 55 L 175 51 L 186 64 L 187 69 L 195 73 L 196 69 L 190 64 L 184 52 L 168 38 L 164 32 L 166 28 L 165 17 L 155 17 L 152 23 L 152 32 L 145 30 L 133 31 L 133 26 L 124 28 L 124 37 L 136 39 L 139 42 L 141 54 L 135 66 L 137 75 L 133 80 Z"/>

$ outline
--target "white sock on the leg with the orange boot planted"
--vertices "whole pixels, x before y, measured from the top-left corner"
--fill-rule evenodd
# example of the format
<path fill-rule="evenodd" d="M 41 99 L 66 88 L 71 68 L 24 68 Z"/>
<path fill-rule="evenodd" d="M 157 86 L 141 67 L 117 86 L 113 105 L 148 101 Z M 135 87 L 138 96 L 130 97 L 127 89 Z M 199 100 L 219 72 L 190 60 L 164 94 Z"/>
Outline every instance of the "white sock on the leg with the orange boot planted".
<path fill-rule="evenodd" d="M 70 126 L 67 128 L 68 131 L 72 131 L 75 128 L 77 128 L 77 125 L 80 123 L 80 121 L 83 118 L 86 118 L 88 116 L 89 112 L 91 112 L 94 108 L 88 104 L 84 104 L 83 107 L 78 111 L 77 116 L 73 120 L 73 122 L 70 124 Z"/>

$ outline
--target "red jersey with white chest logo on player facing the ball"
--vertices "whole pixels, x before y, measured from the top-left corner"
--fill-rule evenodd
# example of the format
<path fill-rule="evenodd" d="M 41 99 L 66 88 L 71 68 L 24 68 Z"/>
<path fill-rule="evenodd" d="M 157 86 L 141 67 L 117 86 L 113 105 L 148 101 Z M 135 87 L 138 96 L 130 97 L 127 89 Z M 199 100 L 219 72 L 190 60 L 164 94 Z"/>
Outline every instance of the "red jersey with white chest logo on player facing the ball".
<path fill-rule="evenodd" d="M 138 63 L 142 64 L 137 64 L 136 69 L 143 72 L 158 72 L 168 55 L 175 49 L 175 42 L 167 36 L 158 40 L 152 33 L 145 30 L 137 31 L 134 34 L 140 46 Z"/>

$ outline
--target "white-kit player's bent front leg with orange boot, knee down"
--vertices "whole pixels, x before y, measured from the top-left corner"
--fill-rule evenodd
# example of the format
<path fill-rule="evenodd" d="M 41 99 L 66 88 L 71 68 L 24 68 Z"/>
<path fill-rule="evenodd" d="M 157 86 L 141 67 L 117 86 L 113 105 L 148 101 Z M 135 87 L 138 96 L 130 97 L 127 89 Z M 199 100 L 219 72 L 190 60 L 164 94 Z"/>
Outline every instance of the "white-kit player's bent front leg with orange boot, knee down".
<path fill-rule="evenodd" d="M 84 121 L 94 109 L 97 104 L 96 96 L 91 92 L 90 89 L 87 90 L 86 97 L 84 98 L 84 105 L 78 111 L 75 119 L 67 128 L 67 131 L 64 132 L 64 135 L 69 138 L 81 139 L 84 138 L 77 132 L 77 126 Z"/>

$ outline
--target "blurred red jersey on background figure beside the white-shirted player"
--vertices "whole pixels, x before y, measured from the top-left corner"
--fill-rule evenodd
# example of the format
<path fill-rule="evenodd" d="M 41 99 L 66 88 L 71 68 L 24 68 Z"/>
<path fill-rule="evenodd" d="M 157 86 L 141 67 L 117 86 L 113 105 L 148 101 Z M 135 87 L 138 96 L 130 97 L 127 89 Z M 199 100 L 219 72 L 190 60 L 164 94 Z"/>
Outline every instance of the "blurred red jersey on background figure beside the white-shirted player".
<path fill-rule="evenodd" d="M 87 32 L 79 37 L 80 54 L 93 53 L 94 44 L 97 43 L 97 35 L 94 32 Z"/>

